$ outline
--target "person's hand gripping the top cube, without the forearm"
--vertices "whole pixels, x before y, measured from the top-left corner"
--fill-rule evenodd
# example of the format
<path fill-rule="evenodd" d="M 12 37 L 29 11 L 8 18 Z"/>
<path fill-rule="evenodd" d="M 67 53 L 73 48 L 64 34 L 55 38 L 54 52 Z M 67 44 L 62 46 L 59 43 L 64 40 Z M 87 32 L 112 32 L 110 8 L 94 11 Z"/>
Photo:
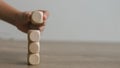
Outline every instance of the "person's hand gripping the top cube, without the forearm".
<path fill-rule="evenodd" d="M 44 16 L 43 16 L 43 23 L 40 25 L 35 26 L 38 30 L 43 31 L 45 28 L 46 20 L 48 18 L 49 13 L 44 10 L 39 10 L 42 11 Z M 18 17 L 16 17 L 16 22 L 15 26 L 22 32 L 27 33 L 28 30 L 30 29 L 31 24 L 31 12 L 21 12 Z"/>

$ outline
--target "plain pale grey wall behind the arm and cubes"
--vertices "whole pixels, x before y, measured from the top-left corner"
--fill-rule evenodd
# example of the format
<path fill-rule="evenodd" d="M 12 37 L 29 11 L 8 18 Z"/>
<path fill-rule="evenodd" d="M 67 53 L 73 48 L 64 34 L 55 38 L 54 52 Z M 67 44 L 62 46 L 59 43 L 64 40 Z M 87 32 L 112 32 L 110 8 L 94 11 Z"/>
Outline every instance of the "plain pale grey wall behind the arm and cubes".
<path fill-rule="evenodd" d="M 120 41 L 120 0 L 5 0 L 22 11 L 50 12 L 43 40 Z M 0 37 L 25 39 L 15 27 L 0 21 Z"/>

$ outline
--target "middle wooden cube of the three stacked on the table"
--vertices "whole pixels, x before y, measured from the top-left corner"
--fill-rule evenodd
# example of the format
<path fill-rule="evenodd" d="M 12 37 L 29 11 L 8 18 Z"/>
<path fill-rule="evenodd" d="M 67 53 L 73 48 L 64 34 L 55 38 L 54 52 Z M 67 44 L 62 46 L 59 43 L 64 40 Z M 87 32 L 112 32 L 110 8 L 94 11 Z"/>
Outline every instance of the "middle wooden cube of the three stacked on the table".
<path fill-rule="evenodd" d="M 28 49 L 30 53 L 39 53 L 40 52 L 39 42 L 30 42 L 28 45 Z"/>

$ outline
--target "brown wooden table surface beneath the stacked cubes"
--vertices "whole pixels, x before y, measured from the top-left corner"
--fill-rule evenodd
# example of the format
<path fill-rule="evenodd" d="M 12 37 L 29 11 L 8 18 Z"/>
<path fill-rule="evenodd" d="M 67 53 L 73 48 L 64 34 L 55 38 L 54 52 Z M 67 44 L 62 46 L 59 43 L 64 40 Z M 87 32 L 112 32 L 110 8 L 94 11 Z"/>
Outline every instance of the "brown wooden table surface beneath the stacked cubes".
<path fill-rule="evenodd" d="M 40 64 L 27 65 L 27 42 L 0 40 L 0 68 L 120 68 L 120 43 L 41 41 Z"/>

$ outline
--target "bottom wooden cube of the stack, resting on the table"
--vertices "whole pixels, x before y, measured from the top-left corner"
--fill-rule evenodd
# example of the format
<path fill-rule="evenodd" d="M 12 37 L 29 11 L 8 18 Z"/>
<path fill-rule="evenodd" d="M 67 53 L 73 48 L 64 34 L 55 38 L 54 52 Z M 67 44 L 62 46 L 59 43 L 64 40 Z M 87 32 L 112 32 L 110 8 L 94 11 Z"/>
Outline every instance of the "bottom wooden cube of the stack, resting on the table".
<path fill-rule="evenodd" d="M 37 65 L 40 63 L 40 55 L 39 53 L 28 54 L 28 64 Z"/>

